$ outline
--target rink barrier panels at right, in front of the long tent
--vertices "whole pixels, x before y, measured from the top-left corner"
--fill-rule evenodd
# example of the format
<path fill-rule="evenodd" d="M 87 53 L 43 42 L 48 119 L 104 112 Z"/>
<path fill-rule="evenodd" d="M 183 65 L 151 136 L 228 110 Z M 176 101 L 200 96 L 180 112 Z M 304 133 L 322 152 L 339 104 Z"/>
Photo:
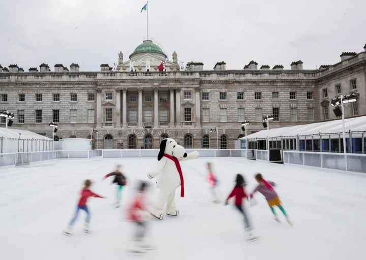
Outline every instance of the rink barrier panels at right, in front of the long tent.
<path fill-rule="evenodd" d="M 366 173 L 366 154 L 283 151 L 284 164 Z"/>

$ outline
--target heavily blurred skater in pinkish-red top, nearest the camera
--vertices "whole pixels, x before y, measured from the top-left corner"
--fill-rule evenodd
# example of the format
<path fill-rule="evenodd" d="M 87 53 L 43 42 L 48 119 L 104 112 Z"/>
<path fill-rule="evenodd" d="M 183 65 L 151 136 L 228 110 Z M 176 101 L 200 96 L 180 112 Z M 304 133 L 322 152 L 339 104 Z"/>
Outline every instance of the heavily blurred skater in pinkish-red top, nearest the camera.
<path fill-rule="evenodd" d="M 142 181 L 138 187 L 131 204 L 128 207 L 128 219 L 135 224 L 135 235 L 132 239 L 133 245 L 130 249 L 133 252 L 141 252 L 144 249 L 152 249 L 144 241 L 147 229 L 147 219 L 150 217 L 147 200 L 147 182 Z"/>

